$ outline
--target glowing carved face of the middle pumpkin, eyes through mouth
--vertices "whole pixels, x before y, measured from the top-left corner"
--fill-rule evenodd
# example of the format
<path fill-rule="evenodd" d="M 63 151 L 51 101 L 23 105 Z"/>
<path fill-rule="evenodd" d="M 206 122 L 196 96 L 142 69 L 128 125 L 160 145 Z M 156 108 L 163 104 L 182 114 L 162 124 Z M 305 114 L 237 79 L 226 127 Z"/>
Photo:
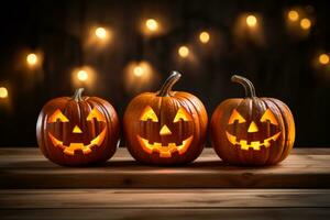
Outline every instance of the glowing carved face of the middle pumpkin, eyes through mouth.
<path fill-rule="evenodd" d="M 189 124 L 193 123 L 191 116 L 184 107 L 180 107 L 172 119 L 172 122 L 161 123 L 154 110 L 150 106 L 145 107 L 140 121 L 143 127 L 151 127 L 153 131 L 143 132 L 142 130 L 136 135 L 143 151 L 148 154 L 155 152 L 160 154 L 160 157 L 170 157 L 175 152 L 180 155 L 188 150 L 194 135 L 186 125 L 191 125 Z M 180 132 L 182 135 L 177 135 L 176 132 Z"/>

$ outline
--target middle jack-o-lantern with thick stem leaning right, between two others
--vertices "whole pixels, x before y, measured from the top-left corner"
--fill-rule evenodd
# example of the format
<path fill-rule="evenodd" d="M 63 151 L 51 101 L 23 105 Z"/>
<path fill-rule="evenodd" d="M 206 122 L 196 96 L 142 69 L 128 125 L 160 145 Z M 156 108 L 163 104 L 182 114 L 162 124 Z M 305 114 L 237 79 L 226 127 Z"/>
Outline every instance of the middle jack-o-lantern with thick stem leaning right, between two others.
<path fill-rule="evenodd" d="M 123 124 L 127 145 L 140 162 L 155 165 L 189 163 L 204 148 L 207 112 L 201 101 L 183 91 L 172 91 L 180 74 L 174 72 L 157 92 L 135 97 Z"/>

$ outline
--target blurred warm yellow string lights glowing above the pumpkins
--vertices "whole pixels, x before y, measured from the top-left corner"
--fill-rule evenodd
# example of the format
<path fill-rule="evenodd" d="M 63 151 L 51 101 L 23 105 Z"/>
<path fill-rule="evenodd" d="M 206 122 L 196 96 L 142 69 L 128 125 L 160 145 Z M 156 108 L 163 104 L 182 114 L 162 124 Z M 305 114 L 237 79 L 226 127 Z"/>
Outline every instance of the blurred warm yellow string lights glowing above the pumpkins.
<path fill-rule="evenodd" d="M 301 36 L 308 35 L 310 29 L 315 25 L 316 21 L 312 16 L 309 16 L 305 8 L 298 7 L 287 10 L 285 13 L 285 20 L 289 32 L 300 34 Z M 239 29 L 244 29 L 244 33 L 252 36 L 258 35 L 262 32 L 262 16 L 260 14 L 248 13 L 240 16 Z M 164 33 L 162 23 L 156 18 L 145 19 L 141 23 L 141 31 L 146 37 L 157 37 Z M 212 35 L 208 30 L 199 31 L 196 34 L 198 41 L 206 45 L 208 44 Z M 106 46 L 112 40 L 112 30 L 107 26 L 92 26 L 90 28 L 90 45 Z M 188 59 L 191 56 L 191 45 L 182 44 L 176 47 L 176 53 L 179 58 Z M 316 55 L 318 66 L 329 66 L 330 58 L 328 52 L 318 53 Z M 30 69 L 37 69 L 42 67 L 43 54 L 41 52 L 31 52 L 25 57 L 26 66 Z M 131 62 L 128 64 L 125 72 L 128 77 L 128 84 L 133 84 L 134 88 L 139 84 L 146 84 L 153 74 L 152 64 L 147 61 Z M 75 86 L 88 86 L 91 85 L 97 77 L 96 70 L 91 66 L 81 66 L 73 70 L 72 79 Z M 130 87 L 130 85 L 128 85 Z M 131 88 L 132 89 L 132 88 Z M 0 85 L 0 99 L 8 99 L 10 96 L 9 89 Z"/>

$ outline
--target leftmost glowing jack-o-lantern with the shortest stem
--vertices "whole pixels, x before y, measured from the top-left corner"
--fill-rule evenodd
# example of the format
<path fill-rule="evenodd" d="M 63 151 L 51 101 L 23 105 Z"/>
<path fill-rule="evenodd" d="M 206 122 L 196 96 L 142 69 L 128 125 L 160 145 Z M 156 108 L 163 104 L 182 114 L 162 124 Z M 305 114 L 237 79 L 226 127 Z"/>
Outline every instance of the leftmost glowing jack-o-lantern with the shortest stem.
<path fill-rule="evenodd" d="M 116 152 L 120 129 L 113 107 L 98 97 L 81 97 L 82 90 L 48 101 L 38 116 L 38 146 L 56 164 L 101 163 Z"/>

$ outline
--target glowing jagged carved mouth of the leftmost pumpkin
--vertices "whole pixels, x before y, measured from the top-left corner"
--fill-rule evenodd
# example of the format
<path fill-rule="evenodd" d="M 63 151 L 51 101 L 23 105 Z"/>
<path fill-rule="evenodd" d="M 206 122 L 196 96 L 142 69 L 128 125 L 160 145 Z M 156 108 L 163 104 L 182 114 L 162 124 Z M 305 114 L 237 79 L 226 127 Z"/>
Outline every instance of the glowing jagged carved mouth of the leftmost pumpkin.
<path fill-rule="evenodd" d="M 59 141 L 54 135 L 48 132 L 48 136 L 54 144 L 54 146 L 57 146 L 63 150 L 63 153 L 67 155 L 75 155 L 76 151 L 81 151 L 84 154 L 89 154 L 92 151 L 92 147 L 100 146 L 106 138 L 107 129 L 105 128 L 99 135 L 97 135 L 95 139 L 90 141 L 89 144 L 85 145 L 82 143 L 70 143 L 68 146 L 63 144 L 63 141 Z"/>

